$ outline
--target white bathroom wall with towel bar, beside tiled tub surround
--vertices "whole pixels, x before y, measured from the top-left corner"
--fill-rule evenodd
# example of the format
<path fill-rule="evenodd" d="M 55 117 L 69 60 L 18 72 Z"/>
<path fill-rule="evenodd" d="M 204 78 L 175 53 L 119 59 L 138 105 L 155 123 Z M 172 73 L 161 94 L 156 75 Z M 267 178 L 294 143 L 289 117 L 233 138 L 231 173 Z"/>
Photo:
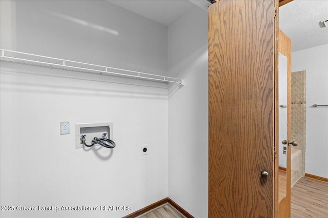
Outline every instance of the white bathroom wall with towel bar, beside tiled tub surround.
<path fill-rule="evenodd" d="M 292 71 L 306 70 L 305 173 L 328 178 L 328 44 L 292 53 Z"/>

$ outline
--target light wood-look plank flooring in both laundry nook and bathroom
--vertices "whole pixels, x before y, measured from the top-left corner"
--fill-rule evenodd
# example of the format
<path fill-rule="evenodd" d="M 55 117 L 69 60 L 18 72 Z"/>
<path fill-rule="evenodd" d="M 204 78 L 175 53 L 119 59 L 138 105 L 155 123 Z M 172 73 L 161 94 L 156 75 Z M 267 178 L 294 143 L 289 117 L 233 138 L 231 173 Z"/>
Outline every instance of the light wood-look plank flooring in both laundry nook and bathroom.
<path fill-rule="evenodd" d="M 142 216 L 142 218 L 183 218 L 167 204 Z M 291 189 L 291 218 L 327 218 L 328 183 L 302 177 Z"/>

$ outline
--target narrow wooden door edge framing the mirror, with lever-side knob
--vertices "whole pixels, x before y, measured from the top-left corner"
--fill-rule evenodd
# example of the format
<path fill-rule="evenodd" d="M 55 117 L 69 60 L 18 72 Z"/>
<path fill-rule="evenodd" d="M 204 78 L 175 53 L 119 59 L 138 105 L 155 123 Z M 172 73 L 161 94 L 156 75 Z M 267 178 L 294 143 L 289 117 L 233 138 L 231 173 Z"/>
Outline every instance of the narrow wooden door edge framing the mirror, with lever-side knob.
<path fill-rule="evenodd" d="M 288 141 L 291 138 L 292 133 L 292 41 L 281 30 L 279 30 L 279 53 L 287 59 L 287 90 L 283 90 L 287 93 L 287 137 Z M 279 141 L 281 145 L 281 141 Z M 281 146 L 279 147 L 281 148 Z M 291 217 L 291 147 L 286 144 L 286 191 L 285 198 L 279 202 L 279 218 Z M 279 187 L 279 185 L 278 185 Z"/>

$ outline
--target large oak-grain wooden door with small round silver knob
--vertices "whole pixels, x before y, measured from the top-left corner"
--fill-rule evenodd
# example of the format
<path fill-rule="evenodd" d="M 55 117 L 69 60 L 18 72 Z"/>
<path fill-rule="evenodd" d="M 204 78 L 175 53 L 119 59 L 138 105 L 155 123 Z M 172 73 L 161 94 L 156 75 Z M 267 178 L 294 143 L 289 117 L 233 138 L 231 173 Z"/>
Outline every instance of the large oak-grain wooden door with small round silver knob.
<path fill-rule="evenodd" d="M 209 217 L 277 213 L 275 8 L 275 0 L 209 7 Z"/>

